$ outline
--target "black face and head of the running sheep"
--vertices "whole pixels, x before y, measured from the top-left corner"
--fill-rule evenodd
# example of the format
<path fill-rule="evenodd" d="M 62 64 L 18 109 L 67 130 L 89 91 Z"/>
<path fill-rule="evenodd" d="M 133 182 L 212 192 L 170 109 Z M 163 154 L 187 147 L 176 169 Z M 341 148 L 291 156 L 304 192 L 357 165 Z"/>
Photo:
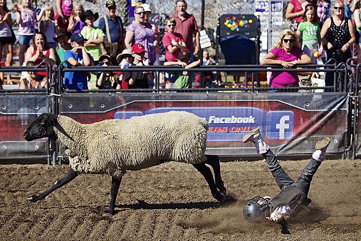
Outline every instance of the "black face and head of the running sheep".
<path fill-rule="evenodd" d="M 54 126 L 57 123 L 55 114 L 43 113 L 24 132 L 24 140 L 31 142 L 40 138 L 54 137 Z"/>

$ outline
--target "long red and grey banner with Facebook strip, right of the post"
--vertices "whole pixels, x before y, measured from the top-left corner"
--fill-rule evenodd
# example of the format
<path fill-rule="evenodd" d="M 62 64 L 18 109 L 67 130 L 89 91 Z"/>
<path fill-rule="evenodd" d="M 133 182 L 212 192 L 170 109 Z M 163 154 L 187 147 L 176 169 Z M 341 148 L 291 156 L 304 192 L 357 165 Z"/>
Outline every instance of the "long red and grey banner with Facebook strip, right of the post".
<path fill-rule="evenodd" d="M 346 93 L 65 93 L 61 113 L 80 123 L 171 110 L 192 112 L 209 124 L 207 153 L 256 155 L 242 137 L 259 127 L 277 155 L 309 155 L 329 136 L 328 153 L 341 155 L 347 132 Z"/>

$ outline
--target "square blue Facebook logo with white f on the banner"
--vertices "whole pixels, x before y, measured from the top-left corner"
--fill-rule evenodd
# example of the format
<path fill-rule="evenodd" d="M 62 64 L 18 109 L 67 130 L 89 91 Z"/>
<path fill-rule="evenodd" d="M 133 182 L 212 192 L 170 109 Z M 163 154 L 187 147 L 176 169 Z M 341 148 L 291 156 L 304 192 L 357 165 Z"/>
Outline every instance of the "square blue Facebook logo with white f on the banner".
<path fill-rule="evenodd" d="M 269 111 L 266 114 L 266 137 L 268 139 L 293 138 L 293 111 Z"/>

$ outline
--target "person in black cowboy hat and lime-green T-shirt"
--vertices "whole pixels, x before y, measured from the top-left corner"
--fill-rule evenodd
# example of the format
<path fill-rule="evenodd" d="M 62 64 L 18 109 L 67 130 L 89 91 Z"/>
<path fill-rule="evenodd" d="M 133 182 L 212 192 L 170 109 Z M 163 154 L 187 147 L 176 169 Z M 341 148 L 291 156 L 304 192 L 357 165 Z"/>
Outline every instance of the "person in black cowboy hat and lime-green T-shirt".
<path fill-rule="evenodd" d="M 106 54 L 103 42 L 104 33 L 101 29 L 94 27 L 94 21 L 99 18 L 99 14 L 91 10 L 85 11 L 84 14 L 80 15 L 80 20 L 86 23 L 86 27 L 80 32 L 87 41 L 84 44 L 86 51 L 93 57 L 95 64 L 99 63 L 99 56 Z"/>

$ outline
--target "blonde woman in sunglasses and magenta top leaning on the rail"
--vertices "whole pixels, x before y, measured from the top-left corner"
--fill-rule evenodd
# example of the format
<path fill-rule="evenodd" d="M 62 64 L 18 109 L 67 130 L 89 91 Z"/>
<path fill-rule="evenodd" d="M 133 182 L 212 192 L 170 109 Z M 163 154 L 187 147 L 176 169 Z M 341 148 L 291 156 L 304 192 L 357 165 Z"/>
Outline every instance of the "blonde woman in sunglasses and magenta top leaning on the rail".
<path fill-rule="evenodd" d="M 310 63 L 310 57 L 299 47 L 297 34 L 290 29 L 282 31 L 271 51 L 261 61 L 262 65 L 281 65 L 285 69 Z M 297 72 L 272 72 L 269 86 L 298 87 L 298 82 Z"/>

